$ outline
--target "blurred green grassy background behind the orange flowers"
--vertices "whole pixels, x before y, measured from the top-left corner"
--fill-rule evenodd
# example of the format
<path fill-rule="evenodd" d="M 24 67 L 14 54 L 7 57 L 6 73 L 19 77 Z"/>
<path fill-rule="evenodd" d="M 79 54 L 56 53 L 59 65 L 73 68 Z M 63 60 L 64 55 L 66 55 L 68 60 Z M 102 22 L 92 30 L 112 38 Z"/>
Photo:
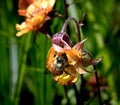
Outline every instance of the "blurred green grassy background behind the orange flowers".
<path fill-rule="evenodd" d="M 48 23 L 51 35 L 61 30 L 67 16 L 80 20 L 82 14 L 86 14 L 81 28 L 82 39 L 88 37 L 85 48 L 94 58 L 103 57 L 97 66 L 107 84 L 107 91 L 101 92 L 102 100 L 109 100 L 111 105 L 119 105 L 120 1 L 75 0 L 72 3 L 72 0 L 66 0 L 71 4 L 67 14 L 64 1 L 57 0 L 54 6 L 64 18 L 57 17 Z M 17 4 L 17 0 L 0 1 L 0 105 L 56 105 L 56 100 L 57 105 L 65 105 L 67 96 L 71 105 L 76 104 L 73 87 L 65 89 L 55 83 L 46 70 L 50 39 L 40 32 L 16 37 L 15 25 L 23 21 L 17 14 Z M 76 43 L 74 28 L 71 26 L 70 30 L 73 43 Z M 35 34 L 37 36 L 34 41 Z M 90 99 L 85 101 L 85 105 L 97 105 L 96 97 L 87 104 Z"/>

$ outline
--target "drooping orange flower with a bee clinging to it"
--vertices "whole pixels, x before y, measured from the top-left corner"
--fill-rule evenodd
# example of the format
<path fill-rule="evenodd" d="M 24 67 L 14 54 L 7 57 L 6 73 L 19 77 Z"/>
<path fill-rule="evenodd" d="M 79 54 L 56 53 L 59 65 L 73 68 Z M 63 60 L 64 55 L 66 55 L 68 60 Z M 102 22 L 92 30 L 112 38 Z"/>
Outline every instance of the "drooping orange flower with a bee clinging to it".
<path fill-rule="evenodd" d="M 65 48 L 53 44 L 47 56 L 46 67 L 52 73 L 55 81 L 62 85 L 70 85 L 78 80 L 78 74 L 86 73 L 84 66 L 95 65 L 99 60 L 86 58 L 83 51 L 83 40 L 73 47 L 65 43 Z"/>

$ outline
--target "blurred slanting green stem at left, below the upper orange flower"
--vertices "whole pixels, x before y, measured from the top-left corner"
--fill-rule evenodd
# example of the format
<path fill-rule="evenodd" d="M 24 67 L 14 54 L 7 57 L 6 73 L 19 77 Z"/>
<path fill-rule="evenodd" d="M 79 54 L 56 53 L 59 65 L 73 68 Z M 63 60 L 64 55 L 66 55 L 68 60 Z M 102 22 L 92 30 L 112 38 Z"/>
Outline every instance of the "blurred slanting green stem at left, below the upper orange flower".
<path fill-rule="evenodd" d="M 24 48 L 23 48 L 23 55 L 22 55 L 22 60 L 21 60 L 21 65 L 20 65 L 20 72 L 19 72 L 19 77 L 17 81 L 17 86 L 16 86 L 16 92 L 15 92 L 15 97 L 14 97 L 14 103 L 15 105 L 19 105 L 19 100 L 20 100 L 20 92 L 22 88 L 22 83 L 23 83 L 23 78 L 25 74 L 25 69 L 26 69 L 26 61 L 27 61 L 27 53 L 30 48 L 30 39 L 31 35 L 25 36 L 25 42 L 24 42 Z"/>

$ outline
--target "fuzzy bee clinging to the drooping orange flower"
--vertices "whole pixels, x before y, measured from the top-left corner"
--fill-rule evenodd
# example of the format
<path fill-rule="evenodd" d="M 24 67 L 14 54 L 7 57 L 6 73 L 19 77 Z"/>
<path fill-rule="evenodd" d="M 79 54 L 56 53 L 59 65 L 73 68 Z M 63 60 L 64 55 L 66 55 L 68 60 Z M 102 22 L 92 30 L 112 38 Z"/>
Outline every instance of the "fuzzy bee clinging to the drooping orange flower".
<path fill-rule="evenodd" d="M 68 64 L 66 55 L 53 51 L 53 49 L 50 49 L 47 61 L 47 68 L 54 76 L 61 75 Z"/>

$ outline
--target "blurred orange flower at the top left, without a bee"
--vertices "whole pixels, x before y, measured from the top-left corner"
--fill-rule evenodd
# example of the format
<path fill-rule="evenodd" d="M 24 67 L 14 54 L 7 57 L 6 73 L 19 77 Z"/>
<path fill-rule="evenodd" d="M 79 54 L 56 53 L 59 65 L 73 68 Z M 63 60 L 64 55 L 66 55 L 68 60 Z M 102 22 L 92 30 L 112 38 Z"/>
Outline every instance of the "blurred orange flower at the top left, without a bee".
<path fill-rule="evenodd" d="M 26 19 L 21 24 L 16 24 L 19 32 L 16 36 L 40 29 L 48 20 L 48 13 L 52 11 L 55 0 L 19 0 L 18 13 Z"/>

